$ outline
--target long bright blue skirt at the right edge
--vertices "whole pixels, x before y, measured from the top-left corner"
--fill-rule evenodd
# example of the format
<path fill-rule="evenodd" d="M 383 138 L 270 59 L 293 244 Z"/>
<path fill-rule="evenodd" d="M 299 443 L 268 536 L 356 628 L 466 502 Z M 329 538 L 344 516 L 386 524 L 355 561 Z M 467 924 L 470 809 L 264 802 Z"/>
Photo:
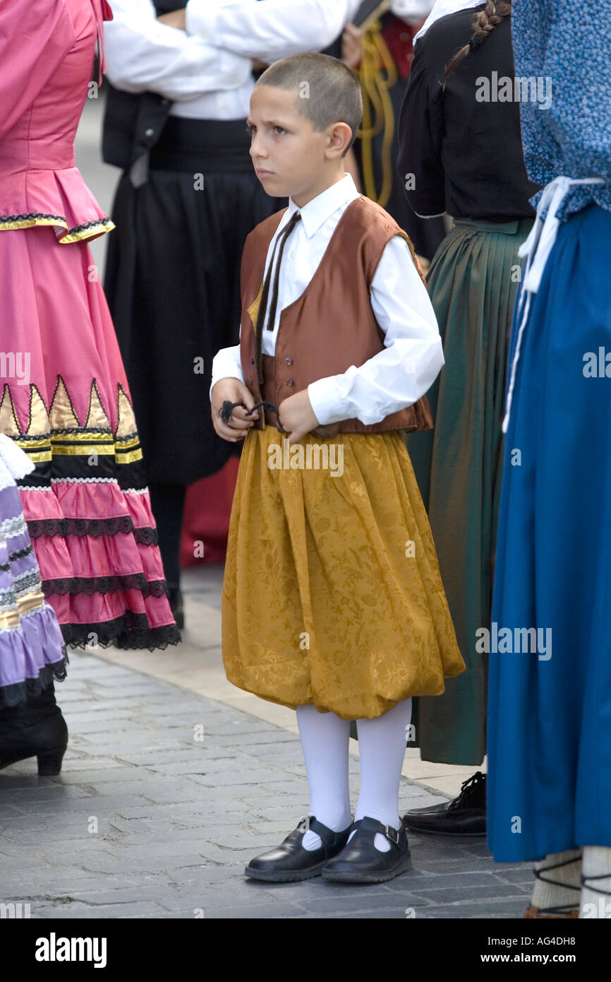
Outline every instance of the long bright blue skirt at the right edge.
<path fill-rule="evenodd" d="M 597 205 L 560 226 L 522 340 L 489 646 L 494 858 L 611 846 L 611 214 Z"/>

